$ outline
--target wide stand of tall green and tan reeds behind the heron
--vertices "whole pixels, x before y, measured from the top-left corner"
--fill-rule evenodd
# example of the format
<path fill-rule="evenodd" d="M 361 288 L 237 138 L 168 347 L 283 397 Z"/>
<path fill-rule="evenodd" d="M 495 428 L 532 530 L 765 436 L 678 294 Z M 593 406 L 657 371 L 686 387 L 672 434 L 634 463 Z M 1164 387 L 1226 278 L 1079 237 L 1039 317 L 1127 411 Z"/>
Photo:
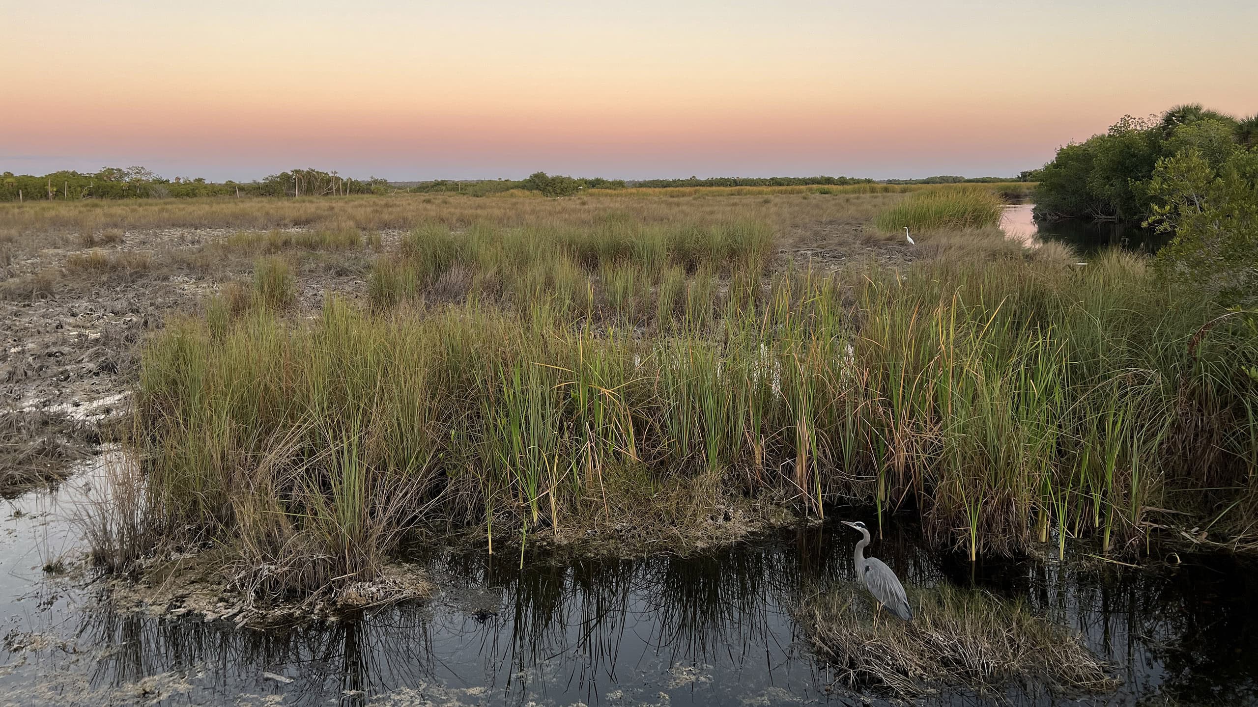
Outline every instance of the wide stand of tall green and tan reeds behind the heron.
<path fill-rule="evenodd" d="M 1205 326 L 1211 306 L 1138 257 L 786 270 L 713 306 L 737 279 L 711 269 L 737 253 L 726 233 L 659 237 L 679 264 L 652 273 L 635 239 L 420 230 L 377 267 L 370 311 L 172 325 L 143 353 L 150 513 L 255 562 L 323 559 L 265 580 L 281 593 L 366 572 L 355 554 L 387 555 L 405 528 L 643 522 L 643 498 L 721 478 L 813 515 L 916 508 L 971 557 L 1126 547 L 1150 508 L 1252 507 L 1258 341 L 1238 318 Z M 513 294 L 425 302 L 455 267 Z M 589 317 L 595 281 L 623 316 Z M 643 330 L 648 315 L 671 318 Z"/>

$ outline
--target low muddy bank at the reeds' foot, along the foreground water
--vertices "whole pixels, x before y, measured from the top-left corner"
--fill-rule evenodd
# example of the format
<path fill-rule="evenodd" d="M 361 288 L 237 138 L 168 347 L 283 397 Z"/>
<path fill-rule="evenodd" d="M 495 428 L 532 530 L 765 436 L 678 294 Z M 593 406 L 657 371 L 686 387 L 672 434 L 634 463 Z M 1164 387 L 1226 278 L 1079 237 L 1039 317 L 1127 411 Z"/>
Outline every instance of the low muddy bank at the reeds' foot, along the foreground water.
<path fill-rule="evenodd" d="M 639 509 L 644 517 L 649 509 Z M 157 554 L 108 575 L 102 585 L 112 610 L 147 616 L 192 616 L 235 626 L 269 629 L 320 621 L 352 620 L 364 610 L 433 596 L 434 585 L 423 559 L 434 554 L 486 555 L 496 561 L 564 567 L 582 562 L 623 561 L 667 554 L 694 557 L 738 542 L 754 542 L 793 526 L 821 521 L 798 516 L 788 499 L 756 501 L 722 496 L 684 527 L 634 522 L 633 513 L 611 523 L 582 527 L 533 527 L 527 537 L 492 536 L 486 528 L 443 532 L 416 526 L 401 551 L 366 579 L 331 582 L 312 594 L 276 596 L 259 590 L 258 575 L 286 572 L 281 565 L 255 566 L 228 547 L 182 548 L 157 545 Z M 84 557 L 83 571 L 94 572 Z M 484 609 L 483 606 L 481 609 Z M 494 613 L 489 609 L 481 614 Z"/>

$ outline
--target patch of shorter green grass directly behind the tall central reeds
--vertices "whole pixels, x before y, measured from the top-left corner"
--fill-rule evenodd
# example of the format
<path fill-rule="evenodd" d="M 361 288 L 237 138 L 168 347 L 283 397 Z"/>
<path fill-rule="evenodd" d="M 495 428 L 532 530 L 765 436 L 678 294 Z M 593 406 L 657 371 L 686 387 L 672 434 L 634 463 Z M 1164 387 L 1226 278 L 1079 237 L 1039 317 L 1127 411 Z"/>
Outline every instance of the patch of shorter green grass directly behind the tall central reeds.
<path fill-rule="evenodd" d="M 565 316 L 644 325 L 684 315 L 703 327 L 717 302 L 718 273 L 754 297 L 771 255 L 772 231 L 755 221 L 712 225 L 634 225 L 620 218 L 599 228 L 502 229 L 455 233 L 439 223 L 413 229 L 398 254 L 376 260 L 369 297 L 376 309 L 408 299 L 511 302 Z M 749 302 L 750 303 L 750 302 Z"/>

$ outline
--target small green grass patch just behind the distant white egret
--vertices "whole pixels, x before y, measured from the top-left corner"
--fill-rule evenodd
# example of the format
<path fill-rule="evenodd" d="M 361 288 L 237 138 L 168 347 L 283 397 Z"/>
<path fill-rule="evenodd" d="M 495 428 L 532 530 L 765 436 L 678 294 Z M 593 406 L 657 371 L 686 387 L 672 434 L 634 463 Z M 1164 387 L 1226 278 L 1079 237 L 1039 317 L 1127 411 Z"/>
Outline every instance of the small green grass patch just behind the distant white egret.
<path fill-rule="evenodd" d="M 1000 224 L 1003 201 L 995 191 L 981 186 L 916 191 L 874 216 L 883 231 L 930 229 L 972 229 Z"/>

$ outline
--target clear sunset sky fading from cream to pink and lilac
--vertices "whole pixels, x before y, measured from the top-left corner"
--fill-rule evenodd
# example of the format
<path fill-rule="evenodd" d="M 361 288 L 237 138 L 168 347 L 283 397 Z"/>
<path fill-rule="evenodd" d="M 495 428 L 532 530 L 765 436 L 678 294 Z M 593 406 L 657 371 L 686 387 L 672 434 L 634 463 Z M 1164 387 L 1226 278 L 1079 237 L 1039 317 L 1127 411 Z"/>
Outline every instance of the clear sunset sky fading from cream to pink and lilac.
<path fill-rule="evenodd" d="M 1014 175 L 1258 112 L 1258 3 L 6 3 L 0 171 Z"/>

